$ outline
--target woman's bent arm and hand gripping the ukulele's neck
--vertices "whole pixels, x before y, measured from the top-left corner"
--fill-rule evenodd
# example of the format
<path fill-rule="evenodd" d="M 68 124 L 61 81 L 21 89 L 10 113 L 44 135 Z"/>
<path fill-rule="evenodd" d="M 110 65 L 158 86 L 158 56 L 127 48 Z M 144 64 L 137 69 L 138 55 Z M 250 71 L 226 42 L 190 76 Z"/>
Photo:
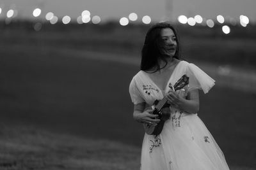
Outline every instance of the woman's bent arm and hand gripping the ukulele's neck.
<path fill-rule="evenodd" d="M 169 103 L 175 108 L 184 110 L 188 113 L 197 113 L 199 111 L 199 92 L 197 89 L 188 92 L 186 99 L 180 97 L 177 92 L 170 90 L 167 94 Z"/>

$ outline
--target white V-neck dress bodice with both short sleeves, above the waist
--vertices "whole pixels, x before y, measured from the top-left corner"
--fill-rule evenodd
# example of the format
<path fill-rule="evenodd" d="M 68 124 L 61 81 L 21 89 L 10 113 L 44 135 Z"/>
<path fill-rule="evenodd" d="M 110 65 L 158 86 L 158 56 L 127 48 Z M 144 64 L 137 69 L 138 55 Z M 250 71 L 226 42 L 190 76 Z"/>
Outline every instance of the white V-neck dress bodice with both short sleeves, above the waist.
<path fill-rule="evenodd" d="M 148 76 L 150 73 L 145 71 L 139 71 L 133 78 L 129 87 L 131 99 L 134 104 L 145 102 L 147 104 L 153 104 L 156 100 L 161 100 L 166 95 L 170 88 L 169 83 L 175 84 L 177 80 L 183 75 L 187 74 L 189 77 L 189 85 L 180 90 L 182 97 L 186 97 L 189 90 L 202 89 L 205 93 L 211 89 L 214 85 L 214 80 L 208 76 L 204 71 L 195 64 L 191 64 L 184 60 L 181 60 L 168 80 L 165 89 L 159 89 L 157 85 Z"/>

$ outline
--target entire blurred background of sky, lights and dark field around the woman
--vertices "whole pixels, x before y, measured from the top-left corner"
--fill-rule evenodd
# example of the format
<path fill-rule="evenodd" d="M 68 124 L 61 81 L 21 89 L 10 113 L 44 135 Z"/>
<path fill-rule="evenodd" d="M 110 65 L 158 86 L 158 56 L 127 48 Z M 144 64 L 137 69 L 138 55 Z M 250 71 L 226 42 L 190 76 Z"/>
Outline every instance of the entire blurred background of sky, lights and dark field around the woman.
<path fill-rule="evenodd" d="M 152 24 L 214 80 L 198 116 L 256 169 L 254 1 L 0 1 L 0 169 L 139 169 L 129 83 Z"/>

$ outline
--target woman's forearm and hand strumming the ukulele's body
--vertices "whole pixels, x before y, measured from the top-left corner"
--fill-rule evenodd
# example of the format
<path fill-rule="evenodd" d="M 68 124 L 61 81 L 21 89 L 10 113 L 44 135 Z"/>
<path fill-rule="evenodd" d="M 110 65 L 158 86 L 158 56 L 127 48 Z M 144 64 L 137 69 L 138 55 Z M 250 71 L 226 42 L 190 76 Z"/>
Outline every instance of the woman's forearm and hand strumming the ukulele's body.
<path fill-rule="evenodd" d="M 146 103 L 134 104 L 133 118 L 137 122 L 143 124 L 156 125 L 160 122 L 159 119 L 155 119 L 158 115 L 152 115 L 152 109 L 148 108 L 145 110 Z M 144 111 L 145 110 L 145 111 Z"/>

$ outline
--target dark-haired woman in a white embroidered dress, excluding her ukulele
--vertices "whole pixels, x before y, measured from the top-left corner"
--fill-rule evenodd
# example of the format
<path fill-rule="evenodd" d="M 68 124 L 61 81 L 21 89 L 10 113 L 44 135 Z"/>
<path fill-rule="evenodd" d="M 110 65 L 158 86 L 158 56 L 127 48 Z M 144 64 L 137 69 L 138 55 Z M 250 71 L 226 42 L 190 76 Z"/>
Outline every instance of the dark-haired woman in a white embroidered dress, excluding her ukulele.
<path fill-rule="evenodd" d="M 198 89 L 207 93 L 214 80 L 195 64 L 180 60 L 179 50 L 179 39 L 170 24 L 159 23 L 148 30 L 141 71 L 132 78 L 129 87 L 133 117 L 140 123 L 157 125 L 157 115 L 145 108 L 167 96 L 170 118 L 159 135 L 145 134 L 141 170 L 228 169 L 223 153 L 196 114 Z M 174 85 L 183 74 L 189 76 L 189 85 L 177 91 L 170 89 L 169 83 Z"/>

